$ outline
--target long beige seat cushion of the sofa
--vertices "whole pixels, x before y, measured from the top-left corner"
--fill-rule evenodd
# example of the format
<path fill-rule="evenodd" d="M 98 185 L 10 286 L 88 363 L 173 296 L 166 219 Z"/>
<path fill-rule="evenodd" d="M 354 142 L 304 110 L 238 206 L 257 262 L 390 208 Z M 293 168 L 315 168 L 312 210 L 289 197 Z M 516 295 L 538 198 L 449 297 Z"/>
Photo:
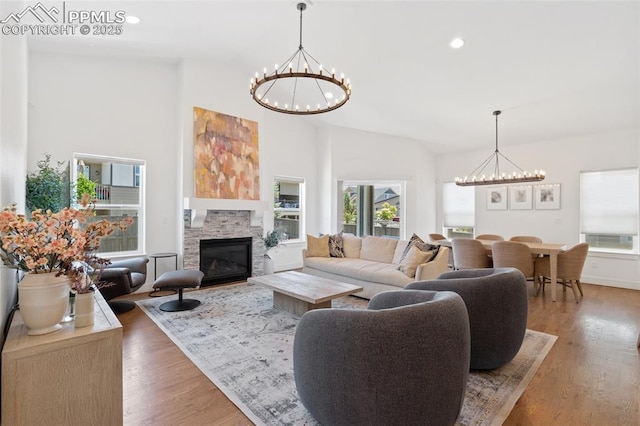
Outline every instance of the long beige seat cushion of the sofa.
<path fill-rule="evenodd" d="M 304 260 L 304 264 L 308 268 L 373 283 L 404 287 L 413 282 L 413 278 L 409 278 L 398 270 L 398 265 L 391 263 L 349 259 L 347 257 L 307 257 Z"/>

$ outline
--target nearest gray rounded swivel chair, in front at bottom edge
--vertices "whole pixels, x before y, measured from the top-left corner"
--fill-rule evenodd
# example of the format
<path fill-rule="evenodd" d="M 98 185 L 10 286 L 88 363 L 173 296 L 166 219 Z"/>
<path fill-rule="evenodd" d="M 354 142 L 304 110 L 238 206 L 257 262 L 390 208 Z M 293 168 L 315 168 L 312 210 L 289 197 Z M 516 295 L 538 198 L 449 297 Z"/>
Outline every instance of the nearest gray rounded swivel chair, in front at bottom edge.
<path fill-rule="evenodd" d="M 293 368 L 300 400 L 321 424 L 452 425 L 469 354 L 469 319 L 457 294 L 387 291 L 367 310 L 305 313 Z"/>

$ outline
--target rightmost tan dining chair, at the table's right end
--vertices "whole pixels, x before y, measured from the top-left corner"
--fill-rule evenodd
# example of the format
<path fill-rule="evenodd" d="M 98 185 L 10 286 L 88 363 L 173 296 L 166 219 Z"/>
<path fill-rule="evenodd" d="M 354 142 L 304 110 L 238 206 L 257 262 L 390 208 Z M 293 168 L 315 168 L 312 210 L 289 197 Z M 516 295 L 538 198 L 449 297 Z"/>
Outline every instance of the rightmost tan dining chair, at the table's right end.
<path fill-rule="evenodd" d="M 584 262 L 587 260 L 588 252 L 589 243 L 580 243 L 558 255 L 558 282 L 562 284 L 563 291 L 567 291 L 567 287 L 571 288 L 576 303 L 579 303 L 580 299 L 584 296 L 582 285 L 580 284 L 580 277 L 582 276 L 582 268 L 584 267 Z M 535 274 L 540 283 L 538 291 L 540 287 L 542 287 L 544 291 L 546 280 L 551 280 L 550 270 L 548 257 L 545 256 L 536 259 Z"/>

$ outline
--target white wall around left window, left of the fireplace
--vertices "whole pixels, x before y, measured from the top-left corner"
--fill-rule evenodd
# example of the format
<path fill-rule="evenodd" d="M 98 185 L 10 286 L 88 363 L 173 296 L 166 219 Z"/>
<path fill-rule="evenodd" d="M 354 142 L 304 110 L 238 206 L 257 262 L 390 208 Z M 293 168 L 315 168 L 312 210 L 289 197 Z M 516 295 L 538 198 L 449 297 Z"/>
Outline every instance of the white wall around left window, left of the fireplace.
<path fill-rule="evenodd" d="M 178 67 L 169 62 L 32 52 L 28 167 L 44 152 L 146 161 L 146 252 L 177 251 Z"/>

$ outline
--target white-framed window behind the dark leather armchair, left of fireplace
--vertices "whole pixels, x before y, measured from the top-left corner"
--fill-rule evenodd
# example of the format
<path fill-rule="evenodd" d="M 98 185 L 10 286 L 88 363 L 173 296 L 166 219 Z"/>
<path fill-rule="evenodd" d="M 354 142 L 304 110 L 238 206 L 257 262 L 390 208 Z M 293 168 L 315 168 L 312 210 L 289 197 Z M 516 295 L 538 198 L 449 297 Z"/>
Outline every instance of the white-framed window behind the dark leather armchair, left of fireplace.
<path fill-rule="evenodd" d="M 126 231 L 117 230 L 102 239 L 100 255 L 109 258 L 144 253 L 145 162 L 76 153 L 73 164 L 76 199 L 83 192 L 90 193 L 95 199 L 95 220 L 134 218 Z"/>

